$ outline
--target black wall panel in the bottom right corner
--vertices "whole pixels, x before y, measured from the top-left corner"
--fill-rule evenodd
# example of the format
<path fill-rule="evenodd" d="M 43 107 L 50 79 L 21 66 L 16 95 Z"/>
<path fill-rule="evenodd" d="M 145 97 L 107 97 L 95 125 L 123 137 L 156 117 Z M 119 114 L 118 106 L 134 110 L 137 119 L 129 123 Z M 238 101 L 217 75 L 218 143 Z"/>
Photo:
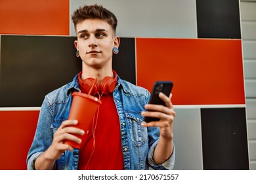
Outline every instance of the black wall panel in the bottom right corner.
<path fill-rule="evenodd" d="M 245 108 L 202 108 L 203 169 L 249 169 Z"/>

